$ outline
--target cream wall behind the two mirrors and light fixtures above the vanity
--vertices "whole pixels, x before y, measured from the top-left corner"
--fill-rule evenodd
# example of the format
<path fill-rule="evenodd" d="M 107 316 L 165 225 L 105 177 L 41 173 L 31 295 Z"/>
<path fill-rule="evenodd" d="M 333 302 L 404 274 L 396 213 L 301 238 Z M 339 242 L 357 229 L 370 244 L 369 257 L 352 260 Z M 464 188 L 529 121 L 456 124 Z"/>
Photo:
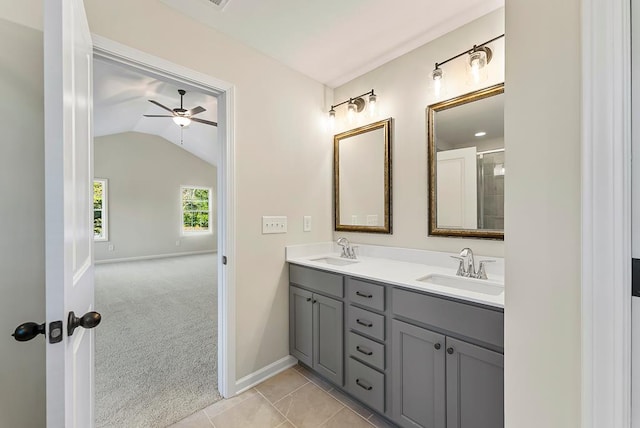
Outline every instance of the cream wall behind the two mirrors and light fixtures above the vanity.
<path fill-rule="evenodd" d="M 503 33 L 504 9 L 499 9 L 335 89 L 337 103 L 373 88 L 379 104 L 376 117 L 360 115 L 355 123 L 345 120 L 344 106 L 338 107 L 336 133 L 385 117 L 393 117 L 394 121 L 391 149 L 393 235 L 335 232 L 334 239 L 347 236 L 350 241 L 358 243 L 451 252 L 468 246 L 477 254 L 504 255 L 502 241 L 428 236 L 426 134 L 428 105 L 504 81 L 504 39 L 491 44 L 494 58 L 488 66 L 488 79 L 479 85 L 468 82 L 464 59 L 460 58 L 442 66 L 447 91 L 436 98 L 429 85 L 434 64 Z M 507 168 L 509 174 L 511 167 L 508 163 Z"/>

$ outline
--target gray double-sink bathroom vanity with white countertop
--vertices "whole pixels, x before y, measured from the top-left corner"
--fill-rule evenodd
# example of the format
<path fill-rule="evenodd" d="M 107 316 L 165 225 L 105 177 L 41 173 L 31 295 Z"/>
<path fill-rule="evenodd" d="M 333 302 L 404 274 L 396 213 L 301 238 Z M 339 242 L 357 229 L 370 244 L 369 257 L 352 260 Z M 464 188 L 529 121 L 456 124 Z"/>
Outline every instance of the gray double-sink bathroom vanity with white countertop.
<path fill-rule="evenodd" d="M 498 274 L 458 279 L 436 252 L 287 251 L 291 355 L 402 427 L 504 425 Z"/>

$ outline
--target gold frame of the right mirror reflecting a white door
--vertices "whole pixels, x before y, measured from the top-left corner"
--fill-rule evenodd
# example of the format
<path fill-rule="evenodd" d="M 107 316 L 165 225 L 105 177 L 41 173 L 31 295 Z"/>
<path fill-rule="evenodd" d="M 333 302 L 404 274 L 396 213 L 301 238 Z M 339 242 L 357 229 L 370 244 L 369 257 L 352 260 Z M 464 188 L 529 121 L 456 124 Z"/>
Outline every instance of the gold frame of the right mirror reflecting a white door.
<path fill-rule="evenodd" d="M 464 238 L 484 238 L 504 240 L 504 230 L 495 229 L 450 229 L 438 227 L 436 201 L 436 142 L 435 142 L 435 113 L 478 101 L 504 93 L 504 83 L 499 83 L 485 89 L 470 92 L 450 100 L 431 104 L 427 107 L 427 141 L 429 152 L 429 236 L 454 236 Z"/>

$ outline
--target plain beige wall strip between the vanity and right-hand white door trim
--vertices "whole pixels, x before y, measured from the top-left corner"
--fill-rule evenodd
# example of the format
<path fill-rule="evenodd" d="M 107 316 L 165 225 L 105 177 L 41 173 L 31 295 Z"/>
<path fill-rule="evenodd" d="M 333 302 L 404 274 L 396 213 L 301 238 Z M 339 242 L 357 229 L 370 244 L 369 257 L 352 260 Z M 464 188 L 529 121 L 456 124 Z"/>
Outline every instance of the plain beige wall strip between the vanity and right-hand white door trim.
<path fill-rule="evenodd" d="M 507 427 L 580 426 L 580 16 L 506 7 Z"/>

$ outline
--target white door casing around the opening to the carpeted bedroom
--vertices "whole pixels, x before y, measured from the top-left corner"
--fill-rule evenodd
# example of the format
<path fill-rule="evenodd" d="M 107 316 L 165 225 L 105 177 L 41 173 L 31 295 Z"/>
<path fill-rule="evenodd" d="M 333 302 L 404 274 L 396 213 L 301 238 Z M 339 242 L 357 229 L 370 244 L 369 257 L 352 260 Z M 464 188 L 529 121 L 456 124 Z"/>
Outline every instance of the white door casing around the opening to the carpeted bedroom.
<path fill-rule="evenodd" d="M 229 362 L 234 361 L 234 341 L 232 340 L 232 334 L 230 334 L 233 331 L 233 322 L 228 321 L 232 319 L 232 314 L 234 312 L 234 296 L 232 292 L 229 292 L 229 284 L 232 282 L 233 278 L 233 265 L 232 263 L 223 264 L 222 260 L 223 256 L 228 257 L 228 255 L 233 254 L 233 215 L 232 210 L 230 209 L 230 207 L 233 206 L 230 201 L 233 200 L 234 196 L 232 192 L 233 135 L 230 132 L 230 130 L 232 129 L 230 123 L 232 123 L 231 106 L 233 100 L 233 87 L 229 84 L 226 84 L 225 82 L 220 82 L 207 76 L 202 76 L 191 70 L 183 69 L 177 65 L 166 63 L 158 58 L 154 58 L 140 52 L 135 52 L 125 46 L 118 45 L 108 40 L 100 39 L 97 42 L 94 40 L 94 43 L 94 59 L 96 60 L 94 61 L 94 64 L 100 61 L 111 65 L 115 64 L 117 66 L 125 67 L 138 73 L 144 73 L 146 76 L 161 80 L 166 84 L 174 85 L 176 87 L 179 86 L 181 89 L 185 89 L 187 94 L 193 95 L 196 93 L 200 93 L 209 97 L 214 97 L 217 100 L 218 104 L 221 106 L 219 111 L 217 112 L 217 118 L 215 118 L 214 120 L 219 124 L 217 129 L 219 137 L 217 138 L 217 144 L 215 145 L 214 153 L 214 155 L 217 157 L 218 165 L 215 173 L 215 184 L 213 188 L 211 188 L 211 193 L 215 196 L 215 198 L 210 200 L 210 203 L 217 208 L 215 209 L 217 214 L 215 215 L 215 217 L 217 217 L 217 220 L 212 219 L 212 221 L 215 221 L 215 224 L 211 225 L 211 227 L 215 227 L 216 230 L 215 235 L 217 237 L 217 254 L 211 257 L 209 262 L 204 262 L 205 266 L 207 265 L 207 263 L 213 263 L 213 267 L 215 268 L 205 273 L 204 276 L 208 275 L 214 278 L 214 281 L 212 281 L 210 284 L 211 287 L 214 287 L 214 284 L 217 283 L 217 287 L 215 288 L 217 294 L 217 304 L 214 305 L 217 307 L 217 311 L 213 316 L 217 318 L 217 339 L 215 340 L 217 344 L 217 355 L 215 355 L 214 359 L 218 369 L 216 374 L 218 380 L 218 389 L 223 396 L 232 395 L 234 393 L 235 384 L 230 382 L 230 380 L 235 379 L 235 373 L 234 364 L 229 364 Z M 176 96 L 177 95 L 178 94 L 176 93 Z M 149 104 L 147 99 L 143 100 L 142 102 L 145 104 Z M 168 102 L 160 102 L 159 104 L 169 105 Z M 174 107 L 173 104 L 170 104 L 170 106 L 171 108 Z M 185 107 L 191 106 L 185 105 Z M 160 111 L 162 112 L 162 110 Z M 205 119 L 204 116 L 203 119 Z M 206 118 L 206 120 L 210 119 L 212 118 Z M 163 118 L 162 120 L 168 120 L 169 122 L 171 122 L 171 118 Z M 171 125 L 176 126 L 173 123 L 171 123 Z M 181 132 L 180 134 L 180 142 L 183 144 L 186 143 L 188 133 Z M 183 184 L 189 185 L 194 183 L 185 182 Z M 111 208 L 113 209 L 113 207 Z M 178 240 L 176 240 L 175 245 L 180 245 Z M 193 255 L 193 253 L 199 252 L 206 253 L 206 251 L 192 251 L 191 254 Z M 187 253 L 189 252 L 187 251 Z M 196 259 L 198 259 L 199 256 L 193 255 L 193 257 L 195 259 L 193 259 L 192 262 L 198 262 L 198 260 Z M 202 257 L 206 257 L 206 254 L 202 254 Z M 227 257 L 224 258 L 227 259 Z M 152 260 L 144 261 L 151 262 Z M 178 258 L 176 258 L 174 261 L 177 262 Z M 202 262 L 202 260 L 200 260 L 200 262 Z M 191 266 L 191 268 L 193 268 L 193 265 Z M 98 305 L 100 304 L 99 301 L 97 303 Z M 138 316 L 144 316 L 144 314 L 138 314 Z M 199 328 L 199 326 L 194 326 L 194 328 Z M 135 336 L 135 332 L 128 332 L 123 334 L 120 337 L 120 340 L 135 340 L 135 338 L 131 336 L 132 333 L 133 336 Z M 100 339 L 97 338 L 97 341 L 99 340 Z M 167 343 L 166 346 L 170 346 L 170 344 Z M 188 352 L 188 350 L 186 350 L 186 352 Z M 212 352 L 215 353 L 215 350 L 213 350 Z M 99 356 L 97 356 L 97 360 L 98 359 Z M 171 368 L 169 368 L 169 370 L 170 369 Z M 162 400 L 162 397 L 157 398 L 159 400 Z M 98 406 L 99 405 L 100 403 L 98 400 Z M 192 412 L 193 409 L 190 409 L 190 411 Z"/>

